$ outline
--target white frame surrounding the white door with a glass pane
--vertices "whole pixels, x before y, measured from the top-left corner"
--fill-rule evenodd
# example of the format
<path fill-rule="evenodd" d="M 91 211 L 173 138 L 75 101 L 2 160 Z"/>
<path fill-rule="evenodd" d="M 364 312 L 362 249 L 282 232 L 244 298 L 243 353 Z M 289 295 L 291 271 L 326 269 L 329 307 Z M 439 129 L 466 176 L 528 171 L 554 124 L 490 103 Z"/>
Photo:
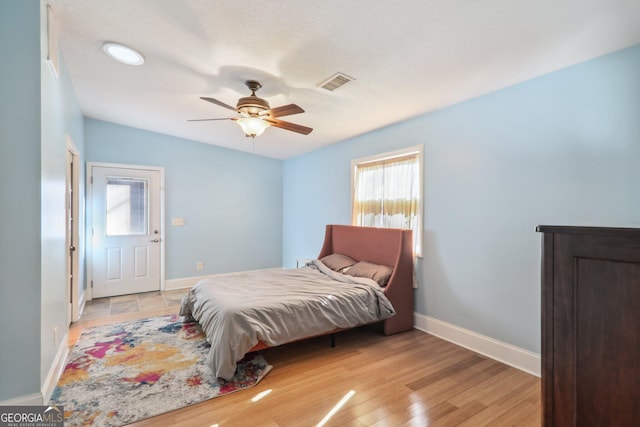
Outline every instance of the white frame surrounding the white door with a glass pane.
<path fill-rule="evenodd" d="M 151 170 L 160 173 L 160 290 L 165 289 L 165 226 L 164 226 L 164 168 L 161 166 L 144 166 L 144 165 L 129 165 L 124 163 L 102 163 L 102 162 L 87 162 L 86 170 L 86 188 L 87 188 L 87 203 L 86 203 L 86 224 L 87 229 L 86 236 L 86 267 L 87 267 L 87 283 L 85 284 L 86 300 L 91 301 L 93 299 L 93 167 L 103 168 L 119 168 L 119 169 L 136 169 L 136 170 Z"/>

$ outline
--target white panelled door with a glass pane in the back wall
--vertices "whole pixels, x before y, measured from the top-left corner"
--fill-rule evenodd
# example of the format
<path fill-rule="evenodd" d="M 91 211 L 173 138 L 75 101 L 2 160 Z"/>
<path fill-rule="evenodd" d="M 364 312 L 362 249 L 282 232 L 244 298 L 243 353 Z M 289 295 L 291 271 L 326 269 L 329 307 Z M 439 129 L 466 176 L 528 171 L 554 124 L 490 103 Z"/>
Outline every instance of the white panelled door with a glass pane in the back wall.
<path fill-rule="evenodd" d="M 92 166 L 93 298 L 160 290 L 160 171 Z"/>

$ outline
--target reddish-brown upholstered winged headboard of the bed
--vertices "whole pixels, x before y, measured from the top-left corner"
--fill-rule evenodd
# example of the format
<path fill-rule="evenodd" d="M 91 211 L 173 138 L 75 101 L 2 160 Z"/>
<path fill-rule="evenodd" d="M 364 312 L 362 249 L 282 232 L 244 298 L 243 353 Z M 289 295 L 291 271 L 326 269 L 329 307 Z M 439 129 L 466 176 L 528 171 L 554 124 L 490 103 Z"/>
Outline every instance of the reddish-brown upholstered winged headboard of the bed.
<path fill-rule="evenodd" d="M 413 328 L 413 235 L 396 228 L 327 225 L 318 258 L 339 253 L 356 261 L 393 267 L 385 294 L 396 314 L 385 320 L 386 335 Z"/>

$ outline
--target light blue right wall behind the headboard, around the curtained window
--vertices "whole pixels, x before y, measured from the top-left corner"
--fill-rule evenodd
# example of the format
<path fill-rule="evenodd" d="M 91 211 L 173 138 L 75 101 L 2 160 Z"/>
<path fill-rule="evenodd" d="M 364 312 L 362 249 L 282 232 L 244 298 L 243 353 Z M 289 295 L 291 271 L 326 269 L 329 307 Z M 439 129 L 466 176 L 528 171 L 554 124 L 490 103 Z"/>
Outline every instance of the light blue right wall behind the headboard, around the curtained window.
<path fill-rule="evenodd" d="M 425 147 L 416 312 L 540 351 L 538 224 L 640 226 L 640 47 L 284 163 L 283 263 L 350 221 L 354 158 Z"/>

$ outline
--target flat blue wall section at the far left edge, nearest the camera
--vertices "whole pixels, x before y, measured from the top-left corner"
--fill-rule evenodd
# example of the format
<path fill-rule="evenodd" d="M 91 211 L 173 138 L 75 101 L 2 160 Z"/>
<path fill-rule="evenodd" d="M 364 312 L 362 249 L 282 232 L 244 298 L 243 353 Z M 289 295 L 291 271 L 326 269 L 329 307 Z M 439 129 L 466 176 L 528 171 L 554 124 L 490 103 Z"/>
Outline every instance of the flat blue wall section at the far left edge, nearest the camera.
<path fill-rule="evenodd" d="M 0 0 L 0 400 L 40 389 L 40 5 Z"/>

